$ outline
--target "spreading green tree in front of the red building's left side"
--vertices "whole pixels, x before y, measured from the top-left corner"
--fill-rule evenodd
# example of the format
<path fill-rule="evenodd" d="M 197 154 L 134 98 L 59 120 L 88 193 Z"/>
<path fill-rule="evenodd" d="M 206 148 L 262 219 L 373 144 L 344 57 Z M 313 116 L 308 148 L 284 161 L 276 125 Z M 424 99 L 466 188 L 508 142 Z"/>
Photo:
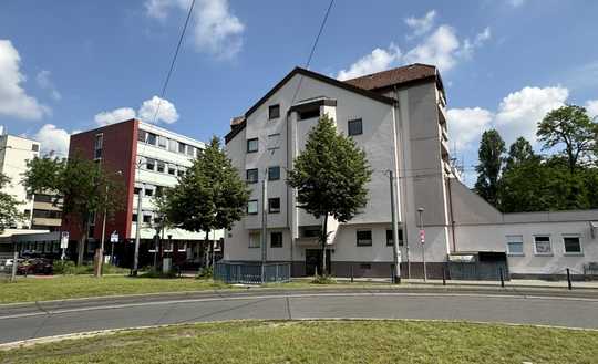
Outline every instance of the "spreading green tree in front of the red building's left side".
<path fill-rule="evenodd" d="M 106 212 L 111 218 L 124 208 L 124 185 L 114 173 L 109 173 L 91 159 L 79 155 L 68 159 L 35 157 L 28 162 L 23 184 L 30 194 L 52 191 L 53 204 L 60 206 L 63 218 L 79 227 L 78 264 L 83 262 L 85 241 L 91 219 Z M 103 252 L 101 252 L 103 253 Z"/>

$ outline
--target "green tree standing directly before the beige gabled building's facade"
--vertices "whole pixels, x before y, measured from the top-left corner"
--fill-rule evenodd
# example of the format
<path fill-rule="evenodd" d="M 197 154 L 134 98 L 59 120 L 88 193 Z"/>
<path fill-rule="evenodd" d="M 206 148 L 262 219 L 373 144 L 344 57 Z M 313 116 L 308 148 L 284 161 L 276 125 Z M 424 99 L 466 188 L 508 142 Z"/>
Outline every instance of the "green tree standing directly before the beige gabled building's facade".
<path fill-rule="evenodd" d="M 287 183 L 297 189 L 300 208 L 322 218 L 321 247 L 322 269 L 326 273 L 326 243 L 328 217 L 347 222 L 368 202 L 368 189 L 372 169 L 355 142 L 337 133 L 328 115 L 320 117 L 309 133 L 305 150 L 288 170 Z"/>

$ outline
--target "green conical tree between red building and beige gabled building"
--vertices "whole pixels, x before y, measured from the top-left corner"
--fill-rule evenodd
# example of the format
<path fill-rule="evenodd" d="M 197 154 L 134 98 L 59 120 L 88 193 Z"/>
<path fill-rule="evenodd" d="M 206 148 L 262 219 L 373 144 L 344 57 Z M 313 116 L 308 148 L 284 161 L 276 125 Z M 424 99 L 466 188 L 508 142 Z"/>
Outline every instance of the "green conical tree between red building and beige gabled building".
<path fill-rule="evenodd" d="M 210 231 L 228 230 L 243 218 L 249 190 L 214 136 L 165 197 L 161 210 L 166 219 L 185 230 L 205 231 L 207 249 Z M 209 254 L 213 250 L 210 245 Z"/>

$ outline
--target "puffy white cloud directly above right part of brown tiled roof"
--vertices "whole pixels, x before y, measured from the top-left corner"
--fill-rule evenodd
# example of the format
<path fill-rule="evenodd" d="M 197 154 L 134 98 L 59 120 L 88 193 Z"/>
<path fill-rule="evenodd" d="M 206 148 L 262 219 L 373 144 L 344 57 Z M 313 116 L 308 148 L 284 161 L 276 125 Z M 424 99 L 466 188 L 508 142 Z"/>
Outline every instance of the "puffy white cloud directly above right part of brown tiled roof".
<path fill-rule="evenodd" d="M 436 65 L 441 71 L 448 71 L 457 63 L 460 41 L 455 30 L 448 25 L 440 25 L 421 44 L 410 50 L 406 63 L 427 63 Z"/>

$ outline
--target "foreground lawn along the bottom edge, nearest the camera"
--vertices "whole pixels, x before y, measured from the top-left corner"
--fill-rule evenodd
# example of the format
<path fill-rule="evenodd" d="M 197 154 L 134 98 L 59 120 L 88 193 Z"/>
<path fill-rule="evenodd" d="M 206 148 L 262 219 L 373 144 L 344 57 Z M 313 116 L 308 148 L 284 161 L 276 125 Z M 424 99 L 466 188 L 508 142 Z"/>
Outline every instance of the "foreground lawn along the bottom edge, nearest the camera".
<path fill-rule="evenodd" d="M 596 363 L 598 332 L 423 321 L 246 321 L 0 352 L 0 363 Z"/>

